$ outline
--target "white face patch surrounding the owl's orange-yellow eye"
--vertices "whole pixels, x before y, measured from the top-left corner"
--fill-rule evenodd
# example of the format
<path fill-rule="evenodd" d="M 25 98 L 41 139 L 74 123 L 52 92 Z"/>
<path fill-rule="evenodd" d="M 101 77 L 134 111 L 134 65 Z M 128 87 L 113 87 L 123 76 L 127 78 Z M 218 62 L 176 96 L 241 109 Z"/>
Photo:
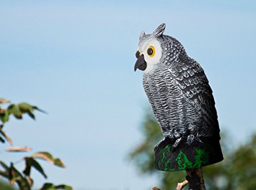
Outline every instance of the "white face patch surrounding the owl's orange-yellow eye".
<path fill-rule="evenodd" d="M 147 54 L 147 49 L 151 46 L 153 46 L 155 50 L 154 56 L 150 56 Z M 148 73 L 154 69 L 155 65 L 160 61 L 162 57 L 161 45 L 156 39 L 153 39 L 148 42 L 145 42 L 140 51 L 144 55 L 144 59 L 147 65 L 143 73 Z"/>

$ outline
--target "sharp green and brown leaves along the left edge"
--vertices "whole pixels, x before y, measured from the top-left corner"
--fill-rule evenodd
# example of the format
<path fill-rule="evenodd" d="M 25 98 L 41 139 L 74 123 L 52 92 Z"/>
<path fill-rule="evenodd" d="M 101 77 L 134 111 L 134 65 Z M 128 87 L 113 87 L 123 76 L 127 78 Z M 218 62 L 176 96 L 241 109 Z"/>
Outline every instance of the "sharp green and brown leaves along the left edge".
<path fill-rule="evenodd" d="M 5 104 L 5 107 L 3 107 Z M 2 124 L 0 125 L 0 142 L 5 143 L 6 141 L 12 145 L 11 138 L 4 131 L 4 125 L 7 121 L 9 121 L 10 116 L 14 116 L 16 119 L 22 119 L 24 114 L 27 114 L 30 118 L 35 119 L 34 111 L 40 111 L 37 106 L 30 105 L 26 102 L 14 104 L 10 103 L 10 101 L 0 98 L 0 120 Z M 22 151 L 30 151 L 29 147 L 9 147 L 6 151 L 11 152 L 22 152 Z M 50 162 L 50 164 L 64 168 L 65 165 L 59 158 L 55 158 L 49 152 L 35 152 L 30 156 L 26 156 L 22 158 L 25 164 L 25 169 L 20 172 L 15 168 L 15 164 L 12 162 L 10 164 L 5 164 L 3 161 L 0 161 L 1 169 L 0 176 L 9 180 L 11 185 L 17 184 L 20 190 L 31 190 L 33 186 L 33 179 L 31 178 L 31 169 L 37 170 L 43 177 L 47 178 L 47 175 L 44 169 L 40 166 L 38 160 L 45 160 Z M 7 189 L 7 188 L 6 188 Z M 10 188 L 11 189 L 11 188 Z M 71 190 L 72 187 L 65 184 L 54 185 L 53 183 L 45 183 L 40 188 L 41 190 L 55 190 L 55 189 L 67 189 Z"/>

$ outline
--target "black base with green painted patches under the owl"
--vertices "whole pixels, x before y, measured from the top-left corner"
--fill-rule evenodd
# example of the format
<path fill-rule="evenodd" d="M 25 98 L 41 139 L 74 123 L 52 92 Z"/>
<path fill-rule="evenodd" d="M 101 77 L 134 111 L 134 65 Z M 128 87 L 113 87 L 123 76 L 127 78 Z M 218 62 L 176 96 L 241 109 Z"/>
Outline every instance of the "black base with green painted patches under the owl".
<path fill-rule="evenodd" d="M 167 138 L 155 149 L 155 168 L 161 171 L 178 171 L 195 169 L 215 164 L 223 160 L 219 140 L 214 138 L 200 138 L 191 145 L 185 142 L 173 149 L 174 141 Z"/>

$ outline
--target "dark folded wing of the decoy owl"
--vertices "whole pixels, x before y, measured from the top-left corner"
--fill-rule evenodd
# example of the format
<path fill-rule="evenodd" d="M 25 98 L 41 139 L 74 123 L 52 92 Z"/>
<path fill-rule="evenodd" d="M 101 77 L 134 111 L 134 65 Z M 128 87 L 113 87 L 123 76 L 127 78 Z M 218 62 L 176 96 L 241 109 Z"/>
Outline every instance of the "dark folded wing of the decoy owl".
<path fill-rule="evenodd" d="M 186 58 L 170 66 L 168 70 L 174 77 L 174 82 L 181 90 L 186 101 L 192 105 L 203 118 L 199 136 L 215 134 L 219 137 L 219 123 L 214 97 L 208 79 L 195 60 Z"/>

